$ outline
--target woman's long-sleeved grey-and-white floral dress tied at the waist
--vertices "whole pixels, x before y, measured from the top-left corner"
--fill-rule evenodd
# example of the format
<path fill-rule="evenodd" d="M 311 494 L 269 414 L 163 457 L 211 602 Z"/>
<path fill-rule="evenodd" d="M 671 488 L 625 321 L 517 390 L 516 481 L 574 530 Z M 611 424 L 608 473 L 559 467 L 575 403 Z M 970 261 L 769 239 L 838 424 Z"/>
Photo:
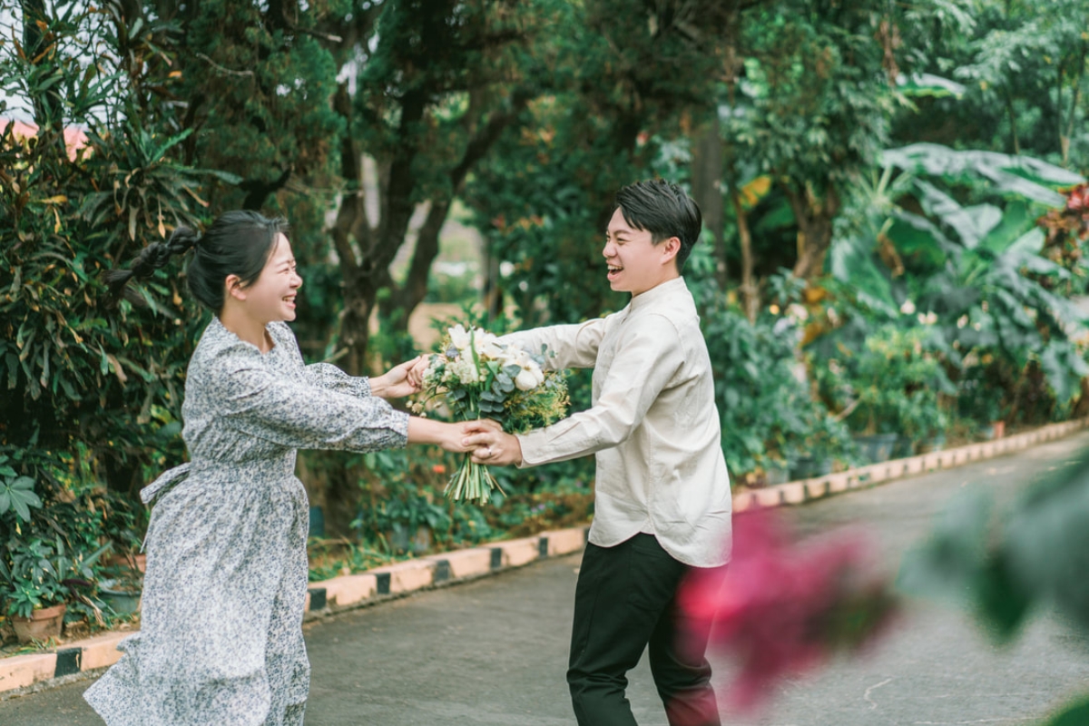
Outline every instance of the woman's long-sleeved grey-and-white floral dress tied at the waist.
<path fill-rule="evenodd" d="M 109 726 L 303 723 L 309 507 L 298 448 L 404 446 L 408 416 L 367 379 L 306 366 L 271 323 L 267 353 L 218 318 L 189 361 L 189 463 L 140 492 L 154 505 L 140 631 L 84 698 Z"/>

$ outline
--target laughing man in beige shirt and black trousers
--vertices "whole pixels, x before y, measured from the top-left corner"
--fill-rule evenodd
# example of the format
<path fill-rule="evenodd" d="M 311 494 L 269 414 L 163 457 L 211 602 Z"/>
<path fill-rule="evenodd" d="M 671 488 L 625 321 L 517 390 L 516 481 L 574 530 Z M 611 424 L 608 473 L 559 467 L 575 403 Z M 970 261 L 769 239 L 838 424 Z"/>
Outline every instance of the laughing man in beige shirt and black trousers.
<path fill-rule="evenodd" d="M 547 345 L 556 368 L 594 368 L 592 406 L 511 435 L 491 421 L 464 441 L 474 460 L 538 466 L 597 455 L 595 516 L 575 592 L 567 682 L 582 726 L 634 726 L 626 673 L 649 645 L 671 726 L 720 723 L 703 657 L 709 626 L 677 608 L 693 568 L 730 557 L 730 480 L 707 344 L 681 270 L 701 216 L 676 185 L 624 187 L 602 255 L 620 312 L 504 339 Z"/>

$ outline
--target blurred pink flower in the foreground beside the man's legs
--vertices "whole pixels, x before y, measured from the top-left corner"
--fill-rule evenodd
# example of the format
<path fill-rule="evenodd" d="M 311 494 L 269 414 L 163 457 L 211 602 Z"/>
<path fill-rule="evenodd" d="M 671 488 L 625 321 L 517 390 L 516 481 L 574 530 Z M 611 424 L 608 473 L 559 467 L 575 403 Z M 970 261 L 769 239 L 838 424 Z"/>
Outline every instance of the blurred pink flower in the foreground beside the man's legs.
<path fill-rule="evenodd" d="M 739 661 L 729 705 L 752 710 L 778 679 L 857 650 L 882 629 L 895 603 L 870 550 L 858 533 L 795 543 L 769 513 L 735 518 L 730 565 L 698 573 L 678 593 L 685 611 L 713 622 L 710 647 Z"/>

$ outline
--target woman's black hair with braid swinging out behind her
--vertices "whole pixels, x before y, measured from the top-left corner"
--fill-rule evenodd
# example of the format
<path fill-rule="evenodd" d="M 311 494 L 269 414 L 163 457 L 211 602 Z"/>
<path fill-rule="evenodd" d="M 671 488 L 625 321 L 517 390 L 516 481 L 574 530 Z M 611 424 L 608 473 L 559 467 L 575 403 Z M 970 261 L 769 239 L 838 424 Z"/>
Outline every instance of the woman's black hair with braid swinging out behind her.
<path fill-rule="evenodd" d="M 110 297 L 117 299 L 125 294 L 133 299 L 125 288 L 130 280 L 146 280 L 166 267 L 174 255 L 192 249 L 193 259 L 185 275 L 189 291 L 206 308 L 219 312 L 223 309 L 223 282 L 228 275 L 238 275 L 243 287 L 257 282 L 276 248 L 277 235 L 286 231 L 287 222 L 283 219 L 269 219 L 246 210 L 221 214 L 204 235 L 180 226 L 167 242 L 145 247 L 127 270 L 106 273 Z"/>

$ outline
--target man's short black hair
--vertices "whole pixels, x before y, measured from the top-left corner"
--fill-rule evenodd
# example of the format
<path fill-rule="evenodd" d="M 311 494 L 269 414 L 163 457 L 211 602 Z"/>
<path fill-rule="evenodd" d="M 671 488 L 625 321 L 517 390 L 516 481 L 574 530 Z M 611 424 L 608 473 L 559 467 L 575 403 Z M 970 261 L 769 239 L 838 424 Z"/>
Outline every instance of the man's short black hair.
<path fill-rule="evenodd" d="M 703 226 L 699 206 L 684 189 L 663 179 L 636 182 L 616 193 L 616 208 L 625 222 L 636 230 L 649 232 L 653 244 L 670 237 L 680 239 L 677 272 L 684 269 Z"/>

